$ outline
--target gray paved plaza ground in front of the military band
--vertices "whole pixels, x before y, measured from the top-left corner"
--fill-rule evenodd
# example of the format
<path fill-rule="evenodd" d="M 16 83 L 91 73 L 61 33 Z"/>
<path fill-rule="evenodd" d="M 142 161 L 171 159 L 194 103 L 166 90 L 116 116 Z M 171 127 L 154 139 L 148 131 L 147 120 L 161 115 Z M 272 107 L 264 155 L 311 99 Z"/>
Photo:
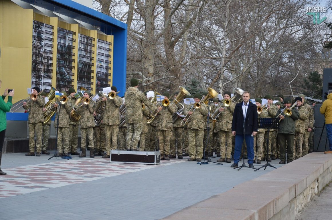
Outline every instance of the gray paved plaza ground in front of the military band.
<path fill-rule="evenodd" d="M 15 192 L 17 195 L 0 197 L 0 219 L 161 219 L 274 170 L 268 167 L 256 172 L 250 168 L 237 171 L 230 168 L 231 163 L 199 165 L 188 162 L 188 157 L 171 159 L 173 163 L 162 162 L 168 165 L 119 165 L 101 157 L 47 160 L 49 157 L 3 154 L 1 168 L 8 175 L 0 176 L 0 196 L 8 193 L 4 192 L 6 188 L 18 188 L 17 184 L 27 175 L 29 178 L 37 175 L 40 185 L 47 178 L 47 184 L 59 184 L 64 173 L 72 176 L 68 181 L 79 181 L 53 187 L 36 186 L 34 182 L 33 187 L 37 187 L 32 189 L 37 190 L 34 192 L 29 191 L 30 185 L 23 184 L 21 191 Z M 280 167 L 278 162 L 274 160 L 271 164 Z M 254 165 L 258 168 L 264 163 Z M 44 170 L 49 167 L 51 174 L 38 167 Z"/>

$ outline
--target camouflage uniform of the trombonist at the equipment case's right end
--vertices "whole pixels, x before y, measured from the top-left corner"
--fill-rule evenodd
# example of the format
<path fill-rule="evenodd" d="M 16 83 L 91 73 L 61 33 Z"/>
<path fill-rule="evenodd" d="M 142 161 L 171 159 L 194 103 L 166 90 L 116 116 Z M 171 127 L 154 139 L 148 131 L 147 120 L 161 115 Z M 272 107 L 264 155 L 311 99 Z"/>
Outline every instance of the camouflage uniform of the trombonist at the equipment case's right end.
<path fill-rule="evenodd" d="M 163 109 L 160 112 L 158 112 L 157 124 L 156 124 L 161 157 L 162 155 L 169 155 L 170 139 L 172 138 L 172 130 L 173 130 L 172 115 L 177 110 L 177 107 L 174 104 L 174 102 L 170 102 L 167 107 L 163 106 L 162 108 Z"/>

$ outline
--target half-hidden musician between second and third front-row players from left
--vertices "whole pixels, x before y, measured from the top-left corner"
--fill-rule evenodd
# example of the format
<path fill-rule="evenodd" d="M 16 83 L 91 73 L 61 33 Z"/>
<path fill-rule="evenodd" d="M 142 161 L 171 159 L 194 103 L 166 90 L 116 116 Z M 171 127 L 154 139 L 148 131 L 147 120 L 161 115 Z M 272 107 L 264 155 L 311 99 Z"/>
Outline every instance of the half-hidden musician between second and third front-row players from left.
<path fill-rule="evenodd" d="M 71 109 L 73 109 L 73 106 L 75 104 L 75 89 L 73 88 L 69 88 L 68 89 L 68 105 L 70 106 Z M 80 155 L 77 152 L 77 145 L 78 145 L 78 127 L 80 125 L 80 122 L 74 122 L 72 120 L 68 120 L 69 121 L 69 151 L 71 155 Z"/>

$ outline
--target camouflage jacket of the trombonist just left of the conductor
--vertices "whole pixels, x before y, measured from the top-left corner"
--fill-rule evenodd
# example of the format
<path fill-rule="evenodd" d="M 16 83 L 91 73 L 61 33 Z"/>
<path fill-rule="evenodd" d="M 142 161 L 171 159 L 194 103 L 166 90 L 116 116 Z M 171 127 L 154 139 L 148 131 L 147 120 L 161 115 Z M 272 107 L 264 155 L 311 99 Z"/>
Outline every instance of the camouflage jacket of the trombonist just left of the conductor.
<path fill-rule="evenodd" d="M 116 96 L 114 99 L 107 99 L 105 101 L 105 112 L 103 115 L 103 124 L 119 125 L 120 124 L 120 106 L 122 105 L 122 98 Z"/>

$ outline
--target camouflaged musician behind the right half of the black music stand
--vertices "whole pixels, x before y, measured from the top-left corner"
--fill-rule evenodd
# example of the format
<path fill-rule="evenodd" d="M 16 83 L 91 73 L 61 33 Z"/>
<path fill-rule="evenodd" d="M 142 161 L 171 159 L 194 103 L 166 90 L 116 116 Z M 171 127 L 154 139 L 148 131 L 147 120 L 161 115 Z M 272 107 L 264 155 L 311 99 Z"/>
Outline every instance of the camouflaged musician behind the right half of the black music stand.
<path fill-rule="evenodd" d="M 277 116 L 277 112 L 278 112 L 278 108 L 277 108 L 276 105 L 273 104 L 273 97 L 271 95 L 266 95 L 264 98 L 268 100 L 268 104 L 267 104 L 267 107 L 266 107 L 268 115 L 266 117 L 267 118 L 274 118 L 274 117 L 276 117 Z M 270 129 L 270 132 L 273 132 L 273 129 Z M 267 140 L 267 138 L 268 138 L 267 137 L 267 132 L 265 132 L 264 140 Z M 271 149 L 272 138 L 273 137 L 269 135 L 269 146 L 268 146 L 269 147 L 269 152 L 265 152 L 265 150 L 266 150 L 266 141 L 264 141 L 263 156 L 262 156 L 261 161 L 265 161 L 265 158 L 266 158 L 265 154 L 268 154 L 267 158 L 268 158 L 269 161 L 271 161 L 270 156 L 271 157 L 272 156 L 275 157 L 276 152 L 273 152 L 273 154 L 271 152 L 271 150 L 272 150 Z"/>

